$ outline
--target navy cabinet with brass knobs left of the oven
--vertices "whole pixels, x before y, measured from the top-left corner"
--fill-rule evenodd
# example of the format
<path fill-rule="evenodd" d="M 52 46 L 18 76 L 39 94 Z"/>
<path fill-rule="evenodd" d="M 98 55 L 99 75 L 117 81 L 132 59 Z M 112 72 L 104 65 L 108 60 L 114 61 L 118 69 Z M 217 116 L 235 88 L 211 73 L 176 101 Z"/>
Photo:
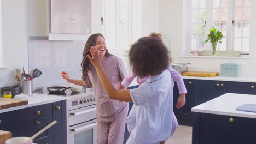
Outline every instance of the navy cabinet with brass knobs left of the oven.
<path fill-rule="evenodd" d="M 0 129 L 11 131 L 13 137 L 31 137 L 54 120 L 53 127 L 44 131 L 34 143 L 66 144 L 66 100 L 0 113 Z"/>

